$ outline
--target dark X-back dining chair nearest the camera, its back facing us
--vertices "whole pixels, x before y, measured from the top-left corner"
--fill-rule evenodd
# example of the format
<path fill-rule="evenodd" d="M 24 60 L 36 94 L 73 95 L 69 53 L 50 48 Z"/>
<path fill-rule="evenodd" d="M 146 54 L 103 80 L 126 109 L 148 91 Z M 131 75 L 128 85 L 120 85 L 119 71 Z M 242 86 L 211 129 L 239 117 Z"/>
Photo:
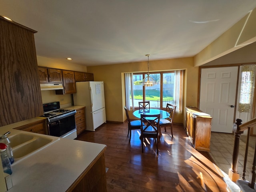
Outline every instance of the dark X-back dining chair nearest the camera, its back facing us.
<path fill-rule="evenodd" d="M 144 138 L 154 138 L 156 142 L 156 153 L 158 154 L 158 143 L 160 142 L 160 114 L 156 115 L 140 115 L 140 122 L 141 122 L 141 128 L 140 128 L 140 140 L 142 145 L 142 153 L 144 150 Z M 146 122 L 143 125 L 143 122 Z M 157 123 L 156 123 L 157 122 Z"/>

